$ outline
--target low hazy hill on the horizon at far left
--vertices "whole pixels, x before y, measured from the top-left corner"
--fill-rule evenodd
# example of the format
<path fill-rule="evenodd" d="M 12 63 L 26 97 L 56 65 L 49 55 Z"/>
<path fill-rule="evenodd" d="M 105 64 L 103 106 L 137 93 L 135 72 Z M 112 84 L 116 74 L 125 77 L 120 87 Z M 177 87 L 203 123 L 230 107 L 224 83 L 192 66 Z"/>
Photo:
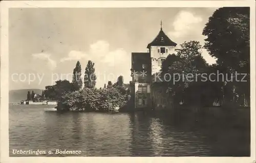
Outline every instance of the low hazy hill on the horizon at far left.
<path fill-rule="evenodd" d="M 28 91 L 36 94 L 41 94 L 42 90 L 40 89 L 21 89 L 21 90 L 10 90 L 9 91 L 9 103 L 17 103 L 20 102 L 21 100 L 26 100 L 27 99 L 27 94 Z"/>

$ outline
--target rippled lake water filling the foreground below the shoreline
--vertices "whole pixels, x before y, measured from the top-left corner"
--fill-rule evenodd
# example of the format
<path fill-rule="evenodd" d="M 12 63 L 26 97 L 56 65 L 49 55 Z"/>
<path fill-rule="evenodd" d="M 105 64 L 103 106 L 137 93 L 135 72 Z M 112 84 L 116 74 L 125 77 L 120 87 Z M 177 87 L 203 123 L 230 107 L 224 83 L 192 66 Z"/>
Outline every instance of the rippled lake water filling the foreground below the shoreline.
<path fill-rule="evenodd" d="M 168 114 L 57 113 L 47 105 L 9 106 L 13 149 L 45 150 L 44 156 L 249 156 L 249 127 L 207 124 Z M 80 150 L 81 154 L 48 154 Z"/>

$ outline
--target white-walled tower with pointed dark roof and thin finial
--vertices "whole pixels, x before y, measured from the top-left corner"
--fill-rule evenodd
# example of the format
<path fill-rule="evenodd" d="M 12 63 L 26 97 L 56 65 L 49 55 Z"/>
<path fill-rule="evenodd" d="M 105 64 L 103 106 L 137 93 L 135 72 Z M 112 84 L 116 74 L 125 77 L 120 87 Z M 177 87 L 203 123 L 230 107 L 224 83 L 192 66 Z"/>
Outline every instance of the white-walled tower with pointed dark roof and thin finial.
<path fill-rule="evenodd" d="M 162 21 L 160 23 L 161 28 L 156 38 L 147 45 L 150 52 L 152 75 L 161 70 L 161 66 L 166 57 L 175 53 L 175 47 L 177 43 L 173 42 L 162 30 Z"/>

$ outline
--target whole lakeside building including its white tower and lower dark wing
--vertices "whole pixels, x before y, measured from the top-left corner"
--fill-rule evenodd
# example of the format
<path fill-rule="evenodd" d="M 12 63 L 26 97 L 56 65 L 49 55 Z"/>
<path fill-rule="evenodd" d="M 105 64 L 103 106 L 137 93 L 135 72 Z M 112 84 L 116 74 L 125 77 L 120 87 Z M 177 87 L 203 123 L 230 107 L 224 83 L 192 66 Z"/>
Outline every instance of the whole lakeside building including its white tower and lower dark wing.
<path fill-rule="evenodd" d="M 134 108 L 152 107 L 151 86 L 156 82 L 152 76 L 161 70 L 168 55 L 176 54 L 177 43 L 173 42 L 161 28 L 155 39 L 147 45 L 148 52 L 132 52 L 132 103 Z"/>

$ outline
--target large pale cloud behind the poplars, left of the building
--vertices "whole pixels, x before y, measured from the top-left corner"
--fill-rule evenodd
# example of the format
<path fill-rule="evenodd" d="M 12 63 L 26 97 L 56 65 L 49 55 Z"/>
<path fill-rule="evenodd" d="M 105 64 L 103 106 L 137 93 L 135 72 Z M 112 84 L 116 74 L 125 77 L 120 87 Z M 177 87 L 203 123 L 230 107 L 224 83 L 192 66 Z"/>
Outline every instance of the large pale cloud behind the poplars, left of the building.
<path fill-rule="evenodd" d="M 89 47 L 87 51 L 70 51 L 69 55 L 62 58 L 60 62 L 80 61 L 82 75 L 84 75 L 88 61 L 93 61 L 97 76 L 96 87 L 98 88 L 103 87 L 109 80 L 116 82 L 119 75 L 123 75 L 124 82 L 129 83 L 131 79 L 131 55 L 129 53 L 123 48 L 111 49 L 109 42 L 105 40 L 98 40 Z"/>

